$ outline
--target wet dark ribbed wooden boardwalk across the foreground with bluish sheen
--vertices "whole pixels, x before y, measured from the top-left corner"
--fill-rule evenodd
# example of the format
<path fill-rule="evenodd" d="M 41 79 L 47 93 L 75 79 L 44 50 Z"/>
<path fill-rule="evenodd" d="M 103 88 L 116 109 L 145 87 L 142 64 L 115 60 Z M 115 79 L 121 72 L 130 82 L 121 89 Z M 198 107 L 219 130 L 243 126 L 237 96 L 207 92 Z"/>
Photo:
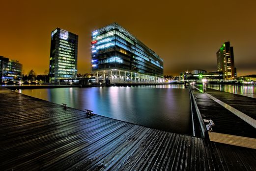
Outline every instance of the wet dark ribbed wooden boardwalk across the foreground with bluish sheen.
<path fill-rule="evenodd" d="M 256 150 L 145 128 L 0 88 L 2 171 L 255 171 Z"/>

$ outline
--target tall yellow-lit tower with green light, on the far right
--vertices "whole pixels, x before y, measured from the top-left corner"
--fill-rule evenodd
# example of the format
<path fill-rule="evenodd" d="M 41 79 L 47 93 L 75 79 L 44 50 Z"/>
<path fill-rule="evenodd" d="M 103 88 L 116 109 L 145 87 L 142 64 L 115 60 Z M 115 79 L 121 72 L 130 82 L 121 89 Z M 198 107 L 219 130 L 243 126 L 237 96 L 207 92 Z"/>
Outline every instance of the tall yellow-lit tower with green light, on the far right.
<path fill-rule="evenodd" d="M 217 52 L 217 71 L 223 72 L 224 80 L 235 78 L 234 52 L 230 42 L 225 42 Z"/>

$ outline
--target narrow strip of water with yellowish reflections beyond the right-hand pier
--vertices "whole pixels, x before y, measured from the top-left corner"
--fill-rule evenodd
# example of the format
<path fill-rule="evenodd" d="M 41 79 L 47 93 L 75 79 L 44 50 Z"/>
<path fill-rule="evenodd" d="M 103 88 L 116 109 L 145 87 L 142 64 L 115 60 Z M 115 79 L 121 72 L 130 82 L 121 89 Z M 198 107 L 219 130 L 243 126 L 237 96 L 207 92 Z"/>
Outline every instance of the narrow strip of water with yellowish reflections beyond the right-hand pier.
<path fill-rule="evenodd" d="M 208 85 L 207 87 L 256 98 L 256 86 L 253 85 Z"/>

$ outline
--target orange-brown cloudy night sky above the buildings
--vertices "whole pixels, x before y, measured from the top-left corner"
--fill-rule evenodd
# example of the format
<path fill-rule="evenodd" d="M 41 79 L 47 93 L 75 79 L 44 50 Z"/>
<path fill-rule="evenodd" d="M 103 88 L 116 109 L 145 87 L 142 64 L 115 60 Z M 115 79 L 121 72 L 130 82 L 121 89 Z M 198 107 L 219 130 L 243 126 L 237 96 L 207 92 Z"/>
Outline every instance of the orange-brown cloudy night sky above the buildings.
<path fill-rule="evenodd" d="M 216 71 L 234 48 L 238 76 L 256 74 L 256 0 L 1 0 L 0 55 L 25 74 L 49 69 L 51 32 L 79 35 L 78 73 L 90 72 L 91 32 L 117 22 L 164 59 L 164 74 Z"/>

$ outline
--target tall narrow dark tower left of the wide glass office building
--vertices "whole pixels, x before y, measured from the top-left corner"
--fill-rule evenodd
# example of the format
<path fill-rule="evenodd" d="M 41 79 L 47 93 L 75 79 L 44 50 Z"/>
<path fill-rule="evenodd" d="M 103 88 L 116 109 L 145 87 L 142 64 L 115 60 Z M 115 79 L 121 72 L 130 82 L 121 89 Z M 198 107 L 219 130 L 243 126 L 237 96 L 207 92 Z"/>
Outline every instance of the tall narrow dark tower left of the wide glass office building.
<path fill-rule="evenodd" d="M 77 76 L 78 35 L 56 28 L 51 35 L 50 82 Z"/>

